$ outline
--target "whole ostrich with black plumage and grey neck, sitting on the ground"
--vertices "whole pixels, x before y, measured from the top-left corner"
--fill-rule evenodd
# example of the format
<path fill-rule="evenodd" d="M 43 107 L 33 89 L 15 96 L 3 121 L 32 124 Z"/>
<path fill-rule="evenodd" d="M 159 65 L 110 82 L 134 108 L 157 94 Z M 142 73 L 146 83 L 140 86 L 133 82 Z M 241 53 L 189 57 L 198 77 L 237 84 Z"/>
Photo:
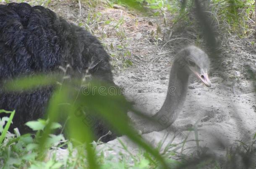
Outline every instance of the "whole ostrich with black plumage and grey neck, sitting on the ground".
<path fill-rule="evenodd" d="M 51 10 L 27 3 L 0 5 L 0 82 L 35 73 L 58 72 L 70 65 L 71 73 L 83 75 L 88 71 L 94 78 L 115 85 L 110 56 L 97 38 L 73 23 L 68 23 Z M 188 76 L 195 73 L 211 86 L 207 75 L 209 60 L 197 47 L 181 50 L 170 73 L 169 88 L 175 95 L 167 95 L 161 110 L 153 117 L 166 117 L 167 124 L 152 124 L 146 119 L 133 119 L 142 133 L 159 131 L 172 124 L 185 101 Z M 31 92 L 6 92 L 0 84 L 0 109 L 16 110 L 11 129 L 18 127 L 21 134 L 29 131 L 27 121 L 42 118 L 54 88 L 45 87 Z M 3 115 L 0 114 L 0 117 Z M 101 121 L 94 128 L 97 138 L 107 134 L 108 127 Z M 115 139 L 107 135 L 103 142 Z"/>

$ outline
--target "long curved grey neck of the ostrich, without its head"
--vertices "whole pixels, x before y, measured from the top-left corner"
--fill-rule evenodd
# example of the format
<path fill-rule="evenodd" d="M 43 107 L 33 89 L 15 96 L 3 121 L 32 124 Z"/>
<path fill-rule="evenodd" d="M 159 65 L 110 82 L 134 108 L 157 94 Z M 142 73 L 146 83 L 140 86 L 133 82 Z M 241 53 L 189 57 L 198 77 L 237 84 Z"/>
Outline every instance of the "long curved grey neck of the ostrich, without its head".
<path fill-rule="evenodd" d="M 188 76 L 188 73 L 180 68 L 179 62 L 175 62 L 172 65 L 165 102 L 157 114 L 152 117 L 154 121 L 137 119 L 135 122 L 137 130 L 140 130 L 143 134 L 161 131 L 177 119 L 185 102 L 188 90 Z"/>

